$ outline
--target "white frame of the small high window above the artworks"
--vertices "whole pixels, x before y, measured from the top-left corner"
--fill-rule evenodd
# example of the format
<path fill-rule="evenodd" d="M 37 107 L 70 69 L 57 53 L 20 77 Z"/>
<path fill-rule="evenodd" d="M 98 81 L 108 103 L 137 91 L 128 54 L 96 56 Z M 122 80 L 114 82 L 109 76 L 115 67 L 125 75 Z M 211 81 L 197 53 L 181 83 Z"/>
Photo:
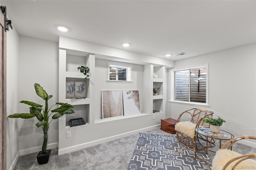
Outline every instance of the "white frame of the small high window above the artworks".
<path fill-rule="evenodd" d="M 110 80 L 110 67 L 125 68 L 126 69 L 126 80 Z M 108 62 L 108 79 L 107 83 L 133 83 L 132 81 L 132 65 L 124 63 L 110 63 Z M 118 79 L 118 77 L 117 77 Z"/>

